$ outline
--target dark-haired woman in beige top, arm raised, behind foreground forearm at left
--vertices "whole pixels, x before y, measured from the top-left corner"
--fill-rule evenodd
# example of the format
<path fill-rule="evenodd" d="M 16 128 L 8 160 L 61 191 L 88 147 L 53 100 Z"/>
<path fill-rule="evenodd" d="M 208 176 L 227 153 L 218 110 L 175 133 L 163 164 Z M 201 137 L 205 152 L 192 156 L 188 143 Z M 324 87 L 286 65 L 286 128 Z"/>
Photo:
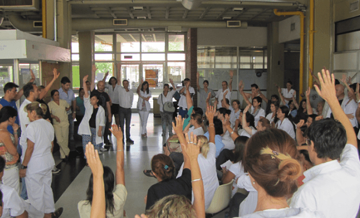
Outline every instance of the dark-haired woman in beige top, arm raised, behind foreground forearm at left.
<path fill-rule="evenodd" d="M 106 217 L 107 218 L 122 218 L 124 216 L 124 204 L 127 198 L 127 190 L 125 187 L 125 172 L 124 172 L 124 146 L 123 146 L 123 134 L 121 129 L 117 125 L 112 125 L 110 129 L 111 133 L 116 137 L 117 152 L 116 152 L 116 175 L 114 181 L 114 174 L 110 167 L 103 167 L 103 178 L 106 196 Z M 86 146 L 85 155 L 89 146 Z M 93 149 L 94 150 L 94 149 Z M 88 159 L 88 158 L 87 158 Z M 91 158 L 92 160 L 92 158 Z M 88 159 L 89 163 L 89 159 Z M 89 163 L 90 166 L 90 163 Z M 91 166 L 90 166 L 91 167 Z M 116 185 L 114 189 L 114 183 Z M 95 178 L 93 174 L 90 176 L 89 187 L 87 189 L 87 199 L 80 201 L 77 205 L 77 209 L 80 214 L 80 218 L 90 218 L 92 213 L 92 207 L 94 205 L 94 188 Z"/>

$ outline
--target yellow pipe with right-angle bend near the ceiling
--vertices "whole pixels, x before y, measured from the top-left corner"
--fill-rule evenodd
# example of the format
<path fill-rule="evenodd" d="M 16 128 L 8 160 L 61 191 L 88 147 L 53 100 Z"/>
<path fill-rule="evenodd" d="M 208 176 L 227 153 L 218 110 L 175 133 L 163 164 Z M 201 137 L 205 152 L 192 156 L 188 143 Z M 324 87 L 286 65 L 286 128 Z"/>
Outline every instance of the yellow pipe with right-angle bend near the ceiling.
<path fill-rule="evenodd" d="M 303 93 L 303 73 L 304 73 L 304 13 L 301 11 L 287 11 L 278 12 L 278 9 L 274 9 L 274 14 L 277 16 L 297 15 L 300 16 L 300 80 L 299 80 L 299 93 Z M 301 98 L 301 96 L 299 95 Z"/>

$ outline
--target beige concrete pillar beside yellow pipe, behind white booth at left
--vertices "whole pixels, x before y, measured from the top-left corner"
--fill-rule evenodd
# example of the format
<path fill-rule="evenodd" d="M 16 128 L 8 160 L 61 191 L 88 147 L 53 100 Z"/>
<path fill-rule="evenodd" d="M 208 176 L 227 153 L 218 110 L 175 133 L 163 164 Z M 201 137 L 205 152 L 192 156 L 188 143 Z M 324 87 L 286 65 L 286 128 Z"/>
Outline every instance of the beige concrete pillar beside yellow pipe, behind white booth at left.
<path fill-rule="evenodd" d="M 57 0 L 57 41 L 60 47 L 71 49 L 71 6 L 67 0 Z M 71 63 L 59 62 L 60 79 L 67 76 L 72 80 Z"/>

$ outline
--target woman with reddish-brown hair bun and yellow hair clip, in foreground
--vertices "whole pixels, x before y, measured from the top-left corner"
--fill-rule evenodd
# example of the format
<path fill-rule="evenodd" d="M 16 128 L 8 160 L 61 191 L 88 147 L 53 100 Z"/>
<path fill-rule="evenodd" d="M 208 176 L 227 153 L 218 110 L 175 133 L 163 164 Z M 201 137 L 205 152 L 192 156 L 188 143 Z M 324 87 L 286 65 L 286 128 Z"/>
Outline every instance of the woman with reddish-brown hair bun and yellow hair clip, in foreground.
<path fill-rule="evenodd" d="M 301 175 L 296 142 L 283 130 L 267 129 L 255 133 L 247 142 L 244 168 L 257 191 L 254 213 L 243 218 L 324 217 L 304 208 L 288 206 L 287 199 L 297 190 Z"/>

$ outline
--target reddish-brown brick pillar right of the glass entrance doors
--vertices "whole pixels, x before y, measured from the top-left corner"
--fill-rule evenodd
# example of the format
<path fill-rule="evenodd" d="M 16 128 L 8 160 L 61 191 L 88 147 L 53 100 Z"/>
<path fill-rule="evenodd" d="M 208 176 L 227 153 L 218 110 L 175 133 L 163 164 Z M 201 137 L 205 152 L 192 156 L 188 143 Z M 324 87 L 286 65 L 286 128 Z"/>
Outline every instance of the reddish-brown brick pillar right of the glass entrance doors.
<path fill-rule="evenodd" d="M 187 40 L 186 40 L 186 77 L 191 80 L 191 87 L 193 87 L 195 90 L 196 90 L 196 73 L 197 73 L 197 29 L 190 28 L 187 31 Z M 196 107 L 197 92 L 195 92 L 192 101 L 194 102 L 194 107 Z"/>

